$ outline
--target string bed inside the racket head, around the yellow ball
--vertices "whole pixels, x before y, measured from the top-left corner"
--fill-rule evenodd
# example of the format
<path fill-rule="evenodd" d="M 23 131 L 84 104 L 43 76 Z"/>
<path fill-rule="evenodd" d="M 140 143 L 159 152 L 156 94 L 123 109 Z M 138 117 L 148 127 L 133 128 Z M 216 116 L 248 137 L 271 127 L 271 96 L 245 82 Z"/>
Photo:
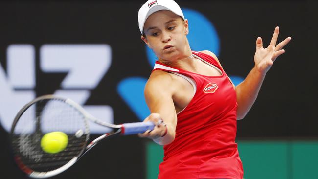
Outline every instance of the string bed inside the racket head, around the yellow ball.
<path fill-rule="evenodd" d="M 43 151 L 41 139 L 46 133 L 60 131 L 68 135 L 68 145 L 58 153 Z M 89 138 L 89 127 L 83 114 L 59 100 L 42 100 L 23 112 L 12 134 L 14 155 L 23 166 L 47 172 L 79 156 Z"/>

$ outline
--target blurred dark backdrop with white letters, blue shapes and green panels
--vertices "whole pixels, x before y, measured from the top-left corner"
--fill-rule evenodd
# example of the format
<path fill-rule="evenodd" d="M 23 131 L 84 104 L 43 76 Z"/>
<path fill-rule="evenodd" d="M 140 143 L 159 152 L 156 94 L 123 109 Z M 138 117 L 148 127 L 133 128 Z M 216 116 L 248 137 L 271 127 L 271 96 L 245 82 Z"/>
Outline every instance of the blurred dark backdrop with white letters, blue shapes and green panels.
<path fill-rule="evenodd" d="M 255 41 L 291 36 L 268 72 L 237 143 L 245 179 L 318 179 L 316 0 L 176 0 L 192 50 L 214 52 L 235 84 L 254 66 Z M 0 2 L 0 178 L 26 179 L 9 131 L 15 114 L 44 94 L 69 97 L 116 124 L 148 114 L 143 88 L 156 57 L 140 39 L 145 0 Z M 91 126 L 92 137 L 103 133 Z M 137 136 L 94 147 L 53 179 L 156 179 L 162 147 Z"/>

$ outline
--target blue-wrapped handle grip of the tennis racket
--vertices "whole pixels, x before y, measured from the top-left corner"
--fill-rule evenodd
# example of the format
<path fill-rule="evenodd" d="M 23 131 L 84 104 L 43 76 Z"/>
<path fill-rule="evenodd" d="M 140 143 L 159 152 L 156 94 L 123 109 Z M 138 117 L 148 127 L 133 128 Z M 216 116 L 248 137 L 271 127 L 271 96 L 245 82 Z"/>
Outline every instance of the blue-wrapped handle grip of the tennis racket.
<path fill-rule="evenodd" d="M 122 127 L 121 127 L 121 134 L 131 135 L 131 134 L 144 133 L 147 130 L 153 130 L 154 128 L 155 128 L 155 124 L 151 121 L 124 123 L 122 124 Z"/>

